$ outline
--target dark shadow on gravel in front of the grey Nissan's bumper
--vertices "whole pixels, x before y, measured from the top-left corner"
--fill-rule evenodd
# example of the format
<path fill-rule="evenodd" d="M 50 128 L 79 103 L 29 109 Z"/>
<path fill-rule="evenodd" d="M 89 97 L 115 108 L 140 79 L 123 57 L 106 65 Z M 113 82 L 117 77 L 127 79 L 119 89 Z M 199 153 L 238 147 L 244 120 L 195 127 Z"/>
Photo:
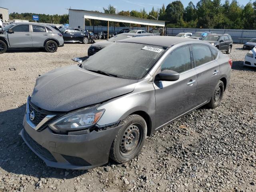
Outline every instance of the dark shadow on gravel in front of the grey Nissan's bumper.
<path fill-rule="evenodd" d="M 6 172 L 43 178 L 74 178 L 86 170 L 64 170 L 46 166 L 19 135 L 26 105 L 0 112 L 0 167 Z M 68 173 L 67 173 L 68 172 Z M 65 176 L 66 173 L 66 176 Z M 68 175 L 67 175 L 68 174 Z"/>

